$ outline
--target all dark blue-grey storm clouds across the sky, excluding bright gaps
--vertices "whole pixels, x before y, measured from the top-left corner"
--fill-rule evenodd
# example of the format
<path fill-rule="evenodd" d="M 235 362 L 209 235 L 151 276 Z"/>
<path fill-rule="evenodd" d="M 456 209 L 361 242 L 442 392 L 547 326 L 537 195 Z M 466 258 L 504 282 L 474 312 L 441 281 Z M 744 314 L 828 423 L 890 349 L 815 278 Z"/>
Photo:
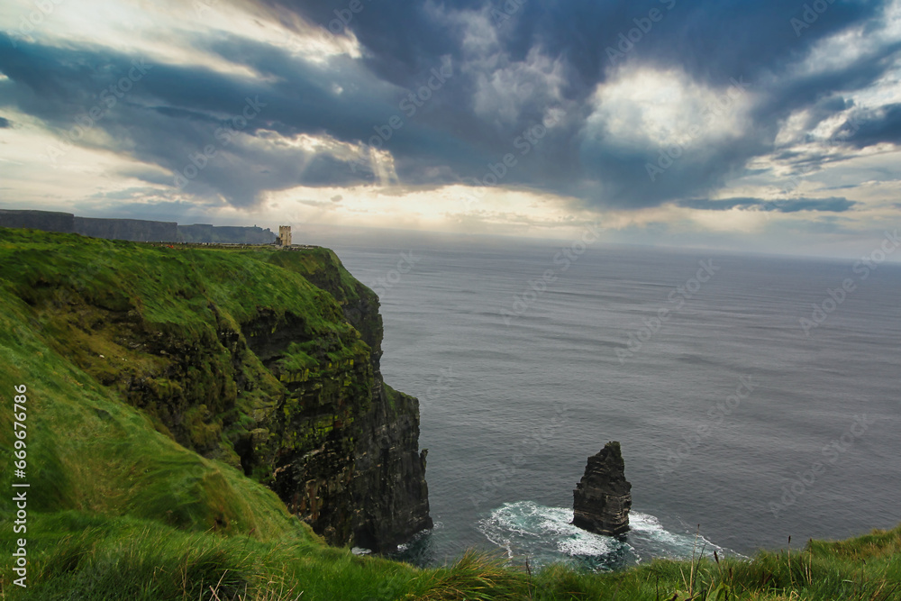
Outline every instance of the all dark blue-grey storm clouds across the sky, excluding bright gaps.
<path fill-rule="evenodd" d="M 365 48 L 364 58 L 332 57 L 314 64 L 234 35 L 195 36 L 190 42 L 198 51 L 264 77 L 152 65 L 94 121 L 92 127 L 108 135 L 86 136 L 76 143 L 156 166 L 128 174 L 145 182 L 174 186 L 179 175 L 185 193 L 233 205 L 250 205 L 268 190 L 352 185 L 376 178 L 366 164 L 278 142 L 280 136 L 306 133 L 383 146 L 391 152 L 404 185 L 486 182 L 493 173 L 492 185 L 500 187 L 575 196 L 588 205 L 653 206 L 709 195 L 731 176 L 746 174 L 749 159 L 772 152 L 780 120 L 798 109 L 807 109 L 805 129 L 813 129 L 851 108 L 848 96 L 882 77 L 901 50 L 897 45 L 875 48 L 842 68 L 811 75 L 797 76 L 792 70 L 824 37 L 860 24 L 872 28 L 885 2 L 837 1 L 800 31 L 792 19 L 805 18 L 805 3 L 784 0 L 529 0 L 512 11 L 510 3 L 505 10 L 503 2 L 482 0 L 440 5 L 360 0 L 358 12 L 350 11 L 350 0 L 234 2 L 275 16 L 286 26 L 299 27 L 293 17 L 300 15 L 323 31 L 352 32 Z M 651 11 L 658 11 L 660 19 L 651 22 Z M 469 46 L 464 43 L 467 27 L 475 28 L 469 35 L 485 33 L 477 26 L 492 28 L 496 35 L 497 45 L 484 50 L 490 56 L 474 54 L 471 41 Z M 637 27 L 647 31 L 625 44 L 623 39 Z M 5 42 L 0 36 L 0 72 L 9 77 L 0 80 L 0 106 L 38 117 L 60 138 L 98 104 L 105 88 L 129 72 L 133 59 L 140 59 L 98 47 L 17 41 L 14 48 Z M 529 63 L 535 50 L 557 65 L 559 91 L 548 89 L 541 74 L 536 75 Z M 405 114 L 405 97 L 423 89 L 432 69 L 442 65 L 450 66 L 452 77 L 414 115 Z M 742 136 L 689 145 L 659 177 L 649 177 L 648 164 L 657 163 L 664 149 L 618 143 L 604 123 L 593 130 L 586 124 L 597 85 L 617 77 L 619 68 L 629 73 L 642 67 L 678 68 L 692 83 L 719 94 L 736 79 L 748 82 L 755 104 Z M 515 106 L 504 119 L 477 111 L 474 103 L 480 86 L 498 68 L 518 73 L 527 84 L 518 96 L 510 96 L 508 105 Z M 505 86 L 494 91 L 506 93 Z M 259 105 L 253 118 L 238 132 L 217 135 L 223 123 L 241 115 L 247 99 Z M 523 142 L 523 133 L 542 123 L 551 105 L 566 110 L 560 123 L 540 139 Z M 388 128 L 388 140 L 374 139 L 393 116 L 400 117 L 403 126 Z M 865 115 L 849 146 L 897 141 L 899 128 L 897 105 L 884 107 Z M 197 155 L 210 147 L 214 157 Z M 507 155 L 514 156 L 515 165 L 497 176 Z M 814 204 L 807 210 L 839 212 L 853 204 L 830 201 L 835 202 L 810 200 Z M 788 206 L 774 210 L 790 212 Z M 711 203 L 707 208 L 722 207 Z"/>

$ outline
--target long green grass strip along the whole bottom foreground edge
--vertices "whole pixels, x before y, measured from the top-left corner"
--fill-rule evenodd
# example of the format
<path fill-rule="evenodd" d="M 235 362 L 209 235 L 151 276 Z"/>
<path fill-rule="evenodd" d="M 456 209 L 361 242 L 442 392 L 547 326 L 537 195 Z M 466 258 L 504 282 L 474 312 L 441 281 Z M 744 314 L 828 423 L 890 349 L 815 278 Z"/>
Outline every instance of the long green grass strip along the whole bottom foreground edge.
<path fill-rule="evenodd" d="M 752 560 L 653 560 L 622 572 L 563 566 L 529 573 L 474 551 L 451 565 L 416 569 L 354 556 L 288 531 L 266 541 L 248 535 L 189 533 L 153 521 L 77 512 L 41 515 L 30 542 L 28 599 L 419 599 L 422 601 L 575 599 L 901 598 L 901 528 L 804 551 L 760 552 Z M 874 546 L 873 541 L 878 541 Z M 866 557 L 868 560 L 863 560 Z M 856 559 L 855 559 L 856 558 Z M 72 596 L 77 591 L 77 596 Z"/>

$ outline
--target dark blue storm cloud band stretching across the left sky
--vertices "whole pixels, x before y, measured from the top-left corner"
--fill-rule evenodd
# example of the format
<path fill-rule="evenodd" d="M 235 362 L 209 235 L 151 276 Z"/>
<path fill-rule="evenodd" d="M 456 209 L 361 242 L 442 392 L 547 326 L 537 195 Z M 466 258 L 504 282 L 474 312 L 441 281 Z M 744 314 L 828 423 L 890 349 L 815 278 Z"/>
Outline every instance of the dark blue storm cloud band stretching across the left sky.
<path fill-rule="evenodd" d="M 373 126 L 397 113 L 394 87 L 356 69 L 350 60 L 339 65 L 350 75 L 334 77 L 250 42 L 242 50 L 245 64 L 266 66 L 265 72 L 278 75 L 276 80 L 264 83 L 203 68 L 146 63 L 146 75 L 109 107 L 99 95 L 129 72 L 133 60 L 141 59 L 20 42 L 17 50 L 0 49 L 0 70 L 9 77 L 0 102 L 40 117 L 63 140 L 74 139 L 70 132 L 77 135 L 73 128 L 79 124 L 91 123 L 87 129 L 102 129 L 114 141 L 107 150 L 158 165 L 173 174 L 169 185 L 181 174 L 187 179 L 186 192 L 223 196 L 235 205 L 249 205 L 262 190 L 365 181 L 365 174 L 355 175 L 346 162 L 302 150 L 259 148 L 243 143 L 241 134 L 259 138 L 267 131 L 306 132 L 344 141 L 368 139 Z M 332 83 L 349 91 L 337 95 Z M 86 122 L 96 106 L 103 114 Z M 242 119 L 248 114 L 253 116 Z M 86 137 L 78 138 L 77 143 L 92 145 Z M 456 151 L 465 154 L 461 142 L 425 129 L 396 132 L 393 143 L 411 154 L 428 146 L 453 150 L 457 143 Z M 215 157 L 198 156 L 207 147 Z M 167 180 L 155 171 L 138 175 L 153 183 Z"/>

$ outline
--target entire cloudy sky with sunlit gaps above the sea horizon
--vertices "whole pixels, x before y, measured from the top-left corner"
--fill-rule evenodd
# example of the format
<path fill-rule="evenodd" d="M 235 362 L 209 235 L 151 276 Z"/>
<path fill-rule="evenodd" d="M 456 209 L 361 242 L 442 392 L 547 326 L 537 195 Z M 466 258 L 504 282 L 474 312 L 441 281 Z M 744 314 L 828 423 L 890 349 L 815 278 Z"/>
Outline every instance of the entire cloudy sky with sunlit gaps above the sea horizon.
<path fill-rule="evenodd" d="M 6 0 L 0 208 L 858 256 L 901 0 Z"/>

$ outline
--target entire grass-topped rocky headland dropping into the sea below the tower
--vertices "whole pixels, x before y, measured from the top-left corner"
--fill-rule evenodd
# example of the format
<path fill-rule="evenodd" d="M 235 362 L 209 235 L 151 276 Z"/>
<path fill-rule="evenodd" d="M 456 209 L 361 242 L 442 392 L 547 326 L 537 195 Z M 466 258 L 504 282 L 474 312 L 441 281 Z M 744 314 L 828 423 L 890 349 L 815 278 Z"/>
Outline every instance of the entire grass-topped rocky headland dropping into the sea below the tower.
<path fill-rule="evenodd" d="M 0 278 L 159 432 L 272 488 L 332 544 L 386 551 L 431 527 L 418 401 L 382 381 L 378 297 L 331 251 L 44 235 Z"/>

